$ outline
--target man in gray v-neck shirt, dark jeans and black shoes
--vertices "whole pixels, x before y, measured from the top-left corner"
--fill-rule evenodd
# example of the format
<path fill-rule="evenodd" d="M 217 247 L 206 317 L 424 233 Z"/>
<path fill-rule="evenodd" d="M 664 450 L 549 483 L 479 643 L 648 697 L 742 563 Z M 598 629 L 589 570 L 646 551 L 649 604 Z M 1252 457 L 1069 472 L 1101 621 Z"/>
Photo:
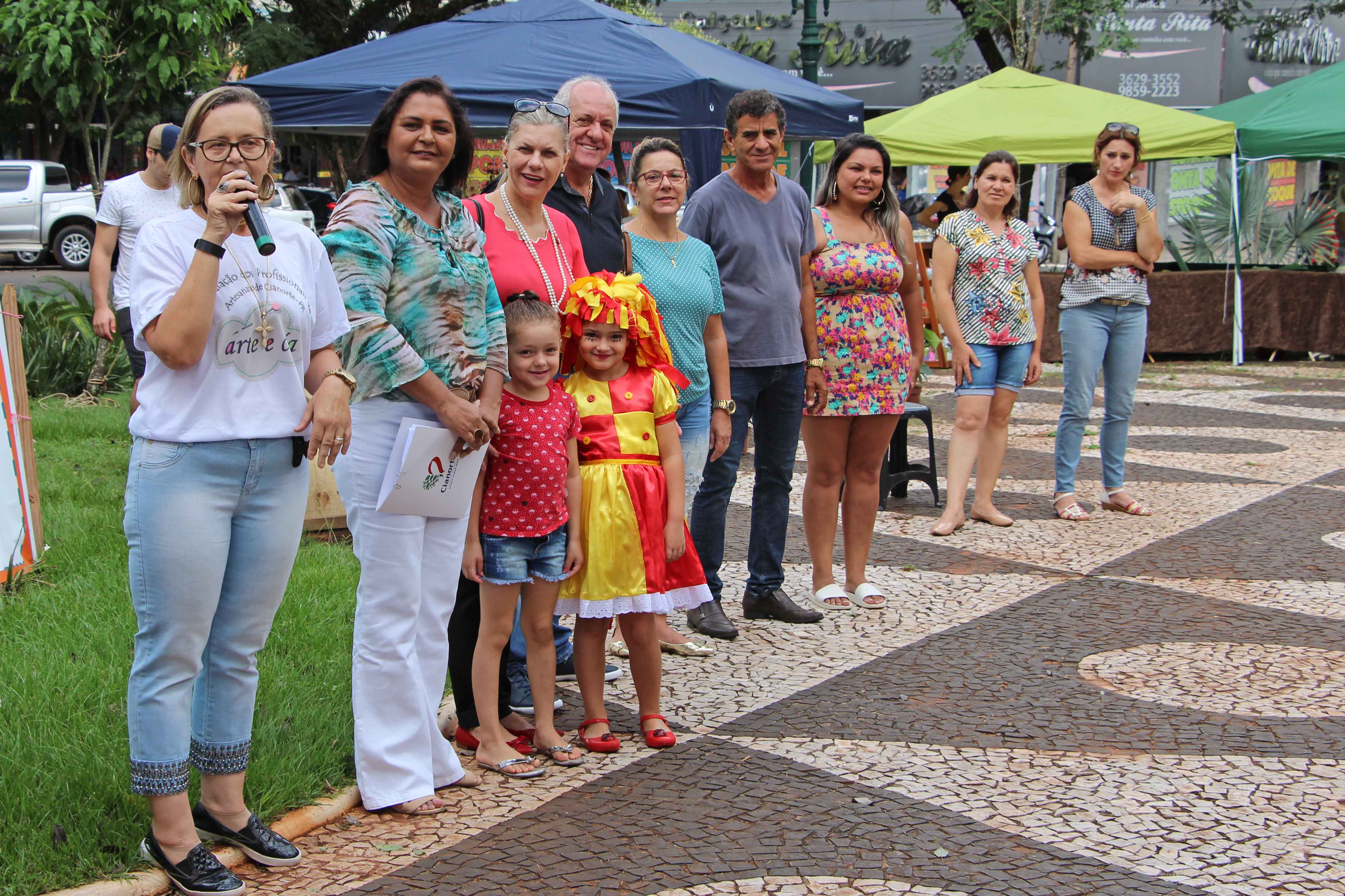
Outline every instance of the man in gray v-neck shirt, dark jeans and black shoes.
<path fill-rule="evenodd" d="M 729 102 L 725 133 L 737 160 L 701 187 L 682 215 L 682 231 L 709 243 L 724 286 L 724 332 L 729 339 L 729 383 L 736 407 L 728 450 L 705 466 L 691 505 L 691 540 L 701 555 L 714 600 L 687 613 L 687 622 L 716 638 L 737 629 L 724 615 L 720 566 L 729 496 L 753 431 L 752 532 L 742 611 L 748 619 L 818 622 L 784 592 L 784 540 L 790 489 L 807 402 L 826 402 L 818 357 L 816 310 L 808 257 L 815 244 L 811 203 L 803 188 L 780 177 L 784 106 L 764 90 Z"/>

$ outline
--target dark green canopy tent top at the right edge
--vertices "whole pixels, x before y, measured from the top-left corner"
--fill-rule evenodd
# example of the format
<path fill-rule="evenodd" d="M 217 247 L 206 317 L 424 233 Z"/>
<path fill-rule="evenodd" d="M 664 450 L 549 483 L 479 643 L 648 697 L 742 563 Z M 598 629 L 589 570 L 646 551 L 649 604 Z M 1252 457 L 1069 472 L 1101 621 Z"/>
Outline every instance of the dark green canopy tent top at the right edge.
<path fill-rule="evenodd" d="M 1345 159 L 1345 62 L 1200 114 L 1237 125 L 1243 159 Z"/>

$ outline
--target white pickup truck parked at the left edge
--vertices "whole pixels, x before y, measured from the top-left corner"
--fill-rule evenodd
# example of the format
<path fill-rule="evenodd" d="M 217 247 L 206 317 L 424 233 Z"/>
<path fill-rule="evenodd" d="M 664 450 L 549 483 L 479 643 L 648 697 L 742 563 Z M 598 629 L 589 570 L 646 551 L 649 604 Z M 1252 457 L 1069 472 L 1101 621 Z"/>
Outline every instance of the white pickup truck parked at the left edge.
<path fill-rule="evenodd" d="M 50 250 L 66 270 L 89 270 L 97 211 L 65 165 L 0 159 L 0 253 L 34 265 Z"/>

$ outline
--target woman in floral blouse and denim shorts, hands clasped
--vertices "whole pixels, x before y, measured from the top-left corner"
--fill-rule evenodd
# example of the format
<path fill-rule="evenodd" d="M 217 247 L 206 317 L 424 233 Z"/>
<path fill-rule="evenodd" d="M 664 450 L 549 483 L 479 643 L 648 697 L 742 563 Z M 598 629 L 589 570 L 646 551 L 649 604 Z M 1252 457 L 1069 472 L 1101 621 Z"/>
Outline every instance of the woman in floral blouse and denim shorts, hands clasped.
<path fill-rule="evenodd" d="M 1046 313 L 1037 240 L 1028 222 L 1013 216 L 1017 189 L 1018 160 L 1002 149 L 987 153 L 976 165 L 967 208 L 940 222 L 933 243 L 933 302 L 952 344 L 958 411 L 948 441 L 948 504 L 932 535 L 966 525 L 972 466 L 971 519 L 1013 525 L 991 497 L 1018 390 L 1041 376 L 1037 334 Z"/>

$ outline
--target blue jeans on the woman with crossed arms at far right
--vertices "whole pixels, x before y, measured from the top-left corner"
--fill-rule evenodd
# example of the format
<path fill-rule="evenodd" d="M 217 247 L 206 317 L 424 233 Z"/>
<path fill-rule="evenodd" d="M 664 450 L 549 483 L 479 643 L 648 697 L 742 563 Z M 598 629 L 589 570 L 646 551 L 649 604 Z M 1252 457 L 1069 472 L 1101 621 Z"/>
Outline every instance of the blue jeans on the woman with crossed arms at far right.
<path fill-rule="evenodd" d="M 1145 364 L 1147 305 L 1091 302 L 1060 312 L 1060 349 L 1065 361 L 1065 396 L 1056 426 L 1056 492 L 1075 490 L 1079 449 L 1092 408 L 1098 371 L 1103 373 L 1102 484 L 1126 484 L 1126 438 L 1135 410 L 1135 386 Z"/>

